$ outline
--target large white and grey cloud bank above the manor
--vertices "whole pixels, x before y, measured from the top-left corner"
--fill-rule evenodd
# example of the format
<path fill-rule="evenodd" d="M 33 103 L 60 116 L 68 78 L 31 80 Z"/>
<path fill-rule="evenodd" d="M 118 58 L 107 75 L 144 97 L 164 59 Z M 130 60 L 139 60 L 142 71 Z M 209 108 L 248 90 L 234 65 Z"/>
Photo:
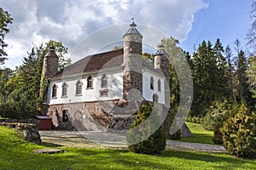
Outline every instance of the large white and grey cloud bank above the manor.
<path fill-rule="evenodd" d="M 32 43 L 61 41 L 70 50 L 84 36 L 105 26 L 131 22 L 152 26 L 167 35 L 185 40 L 192 28 L 194 14 L 207 8 L 203 0 L 0 0 L 14 18 L 6 42 L 8 66 L 12 59 L 32 47 Z M 128 28 L 127 28 L 128 29 Z M 124 32 L 125 33 L 125 32 Z"/>

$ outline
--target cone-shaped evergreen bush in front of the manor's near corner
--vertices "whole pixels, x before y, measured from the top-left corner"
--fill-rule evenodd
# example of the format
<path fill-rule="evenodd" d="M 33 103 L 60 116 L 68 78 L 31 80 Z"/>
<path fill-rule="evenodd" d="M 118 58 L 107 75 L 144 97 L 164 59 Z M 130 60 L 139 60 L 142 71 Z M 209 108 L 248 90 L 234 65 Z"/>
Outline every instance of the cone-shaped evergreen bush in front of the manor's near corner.
<path fill-rule="evenodd" d="M 166 148 L 166 138 L 162 127 L 157 128 L 157 130 L 154 132 L 154 126 L 157 124 L 154 122 L 157 122 L 160 119 L 157 116 L 157 112 L 153 109 L 152 106 L 141 105 L 131 128 L 138 127 L 146 120 L 148 121 L 148 116 L 150 116 L 150 114 L 154 116 L 153 119 L 151 119 L 152 122 L 150 122 L 149 120 L 150 127 L 140 126 L 139 128 L 137 128 L 137 131 L 131 129 L 130 133 L 127 134 L 127 144 L 129 145 L 128 148 L 132 152 L 143 154 L 160 154 L 160 152 L 162 150 L 165 150 Z M 150 135 L 148 139 L 145 139 L 137 144 L 133 144 L 134 141 L 137 141 L 138 139 L 141 139 L 143 137 L 147 137 L 148 134 L 151 133 L 153 134 Z"/>

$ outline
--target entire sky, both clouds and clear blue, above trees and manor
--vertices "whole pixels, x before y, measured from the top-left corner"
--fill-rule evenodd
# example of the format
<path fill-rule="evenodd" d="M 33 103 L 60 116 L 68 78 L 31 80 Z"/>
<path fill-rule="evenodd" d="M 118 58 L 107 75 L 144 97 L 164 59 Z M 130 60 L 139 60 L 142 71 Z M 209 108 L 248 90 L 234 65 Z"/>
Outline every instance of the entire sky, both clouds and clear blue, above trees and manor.
<path fill-rule="evenodd" d="M 198 47 L 203 40 L 214 43 L 217 38 L 220 38 L 224 46 L 229 44 L 231 48 L 238 38 L 246 48 L 245 36 L 251 23 L 249 11 L 252 2 L 253 0 L 0 0 L 1 7 L 14 18 L 5 38 L 5 42 L 9 43 L 9 47 L 5 49 L 9 60 L 0 66 L 14 69 L 22 63 L 26 52 L 33 45 L 50 39 L 63 42 L 69 54 L 73 54 L 73 49 L 81 40 L 94 41 L 91 35 L 109 30 L 109 26 L 116 29 L 115 34 L 108 32 L 104 38 L 109 39 L 108 44 L 119 41 L 129 28 L 131 17 L 135 18 L 138 25 L 152 27 L 168 37 L 176 37 L 181 48 L 189 52 L 194 51 L 194 44 Z M 144 40 L 152 36 L 143 30 L 142 33 Z M 115 36 L 119 38 L 113 39 Z M 96 40 L 102 42 L 102 37 L 98 36 Z M 159 43 L 159 39 L 155 40 L 152 45 L 154 47 Z M 96 48 L 97 41 L 94 44 L 84 41 L 88 46 L 84 49 L 85 54 L 93 54 L 103 48 Z M 73 61 L 78 59 L 69 57 Z M 84 57 L 84 53 L 80 57 Z"/>

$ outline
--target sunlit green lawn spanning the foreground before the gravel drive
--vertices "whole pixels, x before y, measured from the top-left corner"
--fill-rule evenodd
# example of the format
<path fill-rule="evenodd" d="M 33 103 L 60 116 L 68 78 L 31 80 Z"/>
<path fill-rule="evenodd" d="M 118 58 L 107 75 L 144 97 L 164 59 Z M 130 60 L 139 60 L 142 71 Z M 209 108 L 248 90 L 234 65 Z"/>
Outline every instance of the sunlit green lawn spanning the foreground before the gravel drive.
<path fill-rule="evenodd" d="M 61 148 L 64 153 L 36 155 L 43 145 L 24 141 L 13 130 L 0 127 L 0 169 L 253 169 L 256 161 L 224 154 L 166 150 L 147 156 L 128 150 Z"/>

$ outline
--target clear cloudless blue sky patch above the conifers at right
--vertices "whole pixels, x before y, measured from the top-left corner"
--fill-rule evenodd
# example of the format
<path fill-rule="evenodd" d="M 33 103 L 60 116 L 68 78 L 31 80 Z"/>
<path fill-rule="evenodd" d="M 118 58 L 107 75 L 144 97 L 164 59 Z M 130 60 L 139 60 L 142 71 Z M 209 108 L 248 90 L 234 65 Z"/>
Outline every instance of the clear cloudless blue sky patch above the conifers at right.
<path fill-rule="evenodd" d="M 195 13 L 193 28 L 189 32 L 187 40 L 181 42 L 181 47 L 193 52 L 194 44 L 203 40 L 212 43 L 220 38 L 224 47 L 234 47 L 236 38 L 246 46 L 246 33 L 249 29 L 251 19 L 249 11 L 253 1 L 250 0 L 210 0 L 208 8 Z"/>

